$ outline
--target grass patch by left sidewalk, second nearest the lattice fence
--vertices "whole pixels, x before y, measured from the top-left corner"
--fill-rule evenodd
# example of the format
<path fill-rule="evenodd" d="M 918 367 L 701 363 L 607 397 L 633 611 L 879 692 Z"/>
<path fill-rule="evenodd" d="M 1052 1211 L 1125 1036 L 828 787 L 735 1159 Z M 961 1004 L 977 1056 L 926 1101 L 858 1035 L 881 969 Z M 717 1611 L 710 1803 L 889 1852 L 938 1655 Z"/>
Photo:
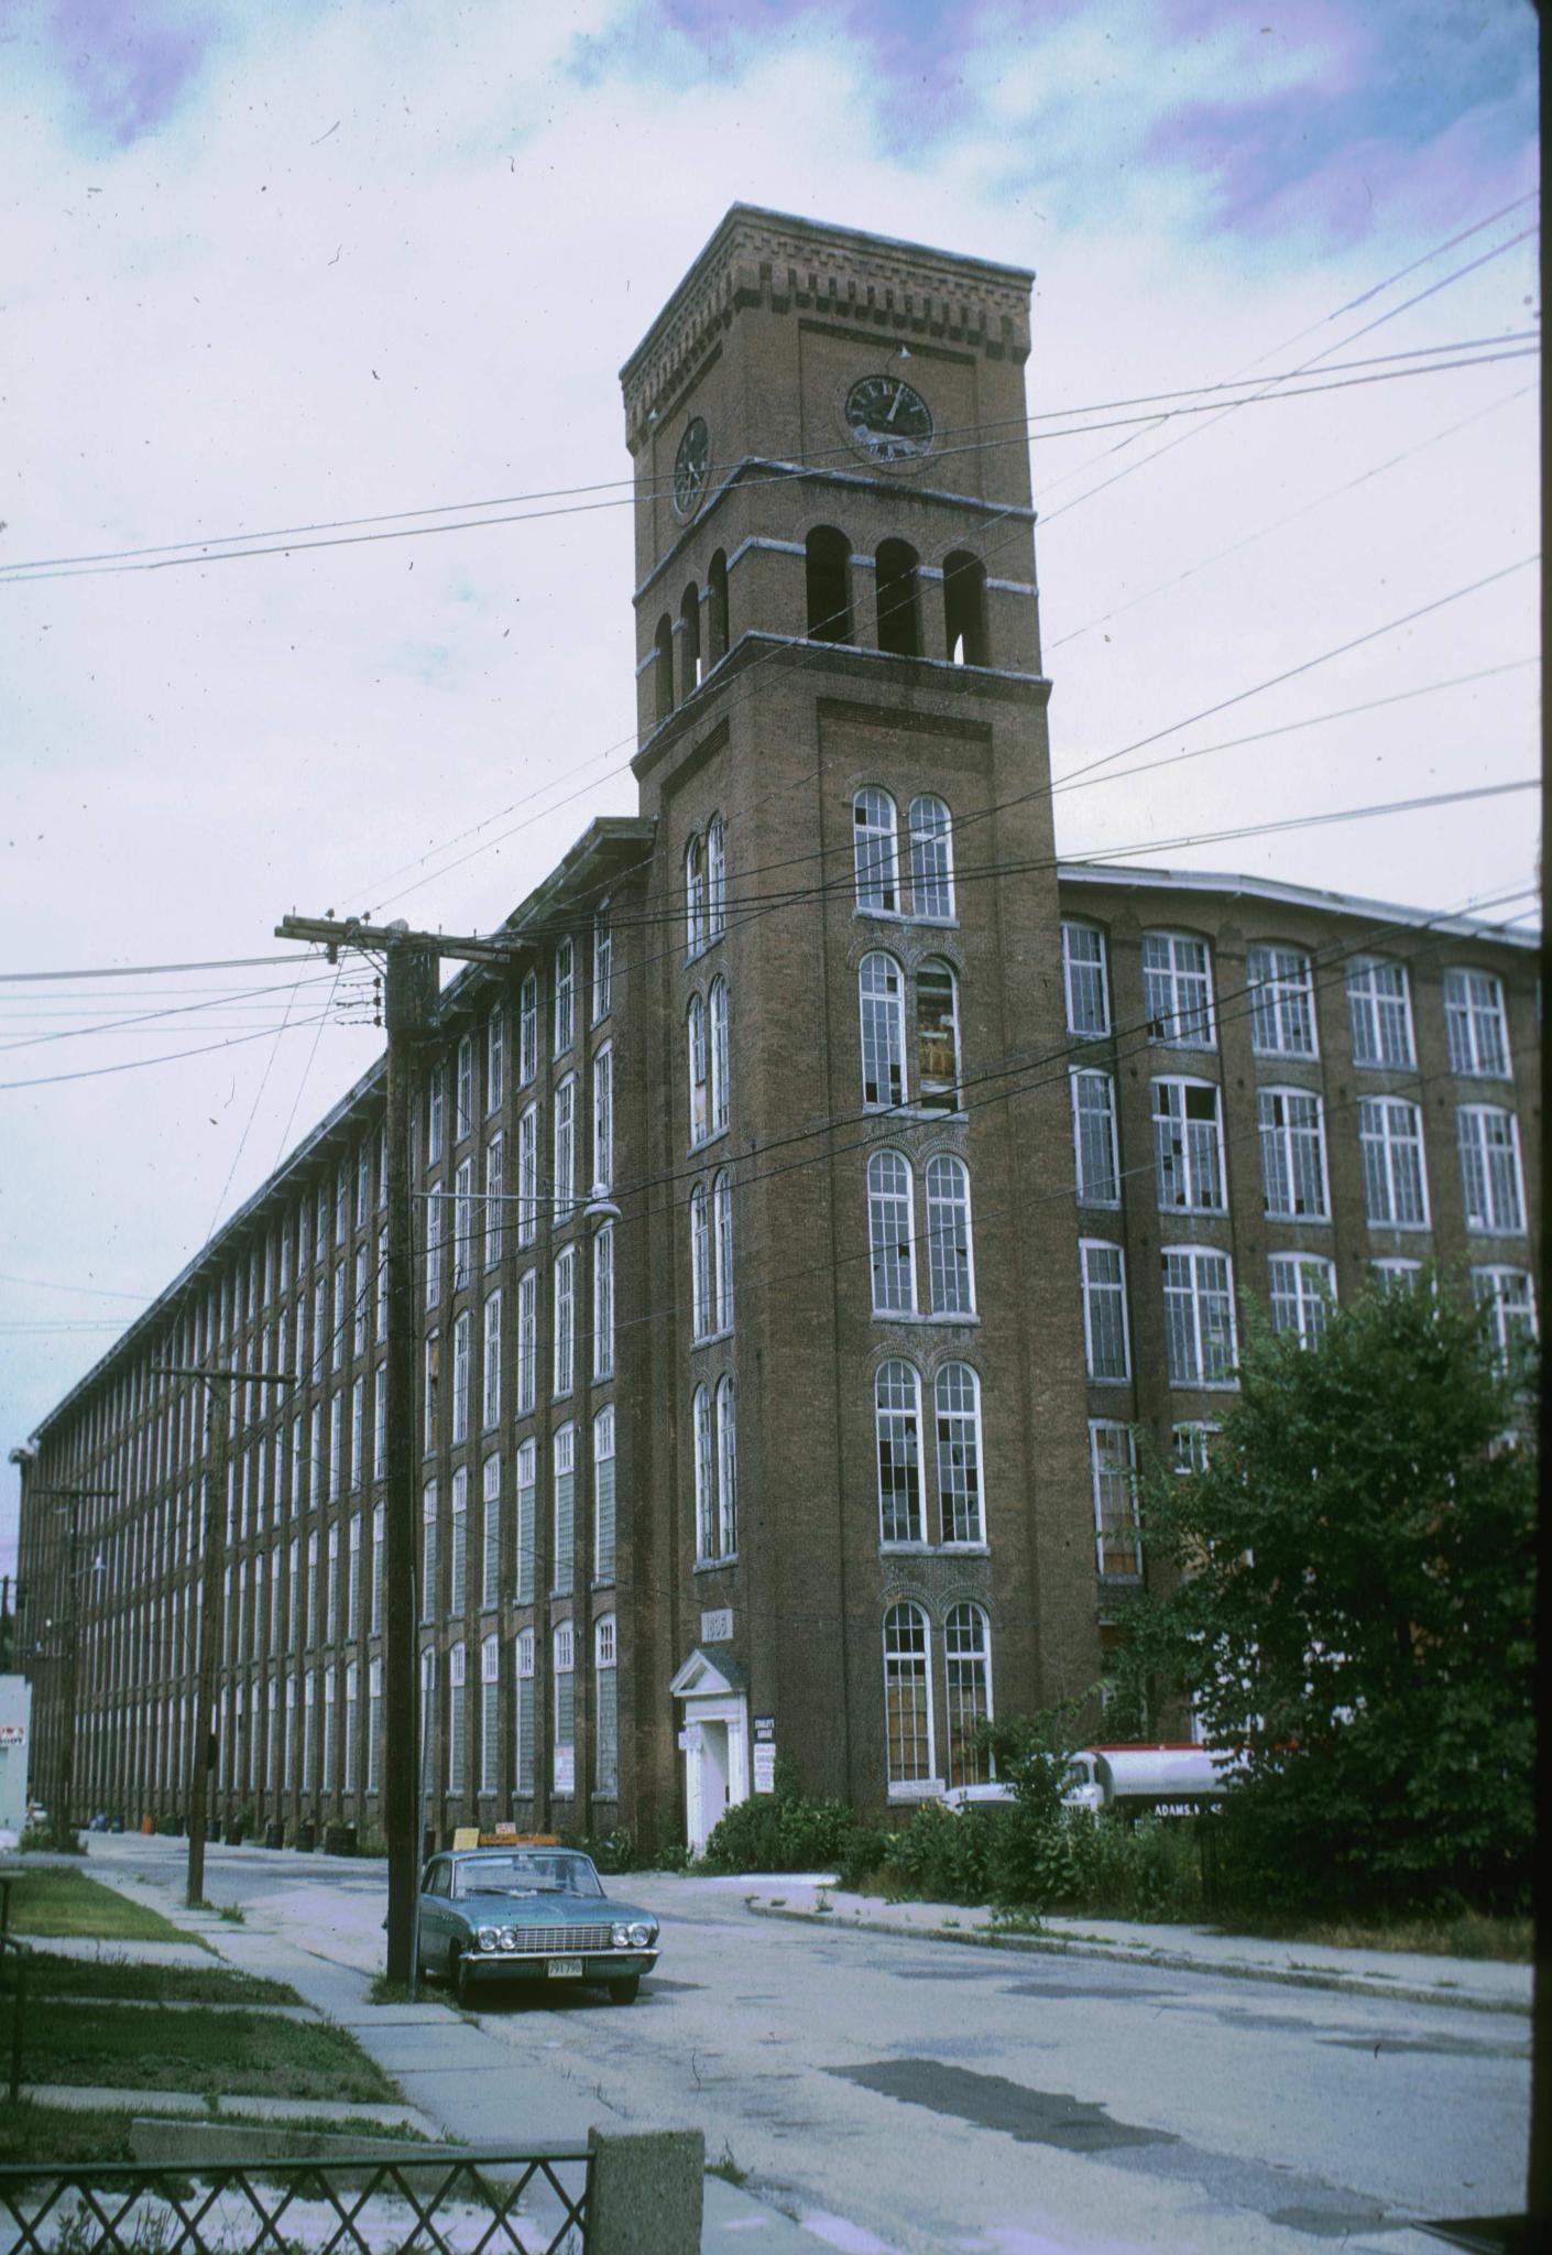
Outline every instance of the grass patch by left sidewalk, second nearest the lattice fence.
<path fill-rule="evenodd" d="M 9 2041 L 7 2011 L 0 2020 Z M 395 2086 L 341 2027 L 250 2011 L 104 2014 L 59 2002 L 29 2014 L 29 2084 L 108 2084 L 273 2099 L 397 2099 Z"/>

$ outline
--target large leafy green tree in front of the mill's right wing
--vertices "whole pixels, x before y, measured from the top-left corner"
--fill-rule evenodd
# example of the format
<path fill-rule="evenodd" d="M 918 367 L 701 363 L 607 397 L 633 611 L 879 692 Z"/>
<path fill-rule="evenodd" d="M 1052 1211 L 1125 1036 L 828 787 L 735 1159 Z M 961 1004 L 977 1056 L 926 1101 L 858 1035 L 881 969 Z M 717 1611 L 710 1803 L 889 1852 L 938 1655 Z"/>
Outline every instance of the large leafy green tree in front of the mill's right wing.
<path fill-rule="evenodd" d="M 1534 1351 L 1498 1353 L 1491 1312 L 1432 1279 L 1329 1308 L 1306 1348 L 1254 1308 L 1243 1328 L 1205 1470 L 1141 1475 L 1128 1669 L 1243 1748 L 1241 1887 L 1514 1908 L 1534 1829 Z"/>

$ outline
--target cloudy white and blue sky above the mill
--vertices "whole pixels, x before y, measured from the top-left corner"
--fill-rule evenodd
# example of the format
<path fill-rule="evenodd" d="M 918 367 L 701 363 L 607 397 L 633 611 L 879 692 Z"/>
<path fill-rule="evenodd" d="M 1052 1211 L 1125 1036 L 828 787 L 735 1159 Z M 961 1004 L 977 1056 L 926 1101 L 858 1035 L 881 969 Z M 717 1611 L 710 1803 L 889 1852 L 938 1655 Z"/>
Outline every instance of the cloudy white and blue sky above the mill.
<path fill-rule="evenodd" d="M 0 0 L 2 1450 L 379 1053 L 277 918 L 634 810 L 616 372 L 733 201 L 1035 268 L 1058 787 L 1202 751 L 1062 852 L 1534 916 L 1534 794 L 1189 843 L 1536 773 L 1534 120 L 1527 0 Z"/>

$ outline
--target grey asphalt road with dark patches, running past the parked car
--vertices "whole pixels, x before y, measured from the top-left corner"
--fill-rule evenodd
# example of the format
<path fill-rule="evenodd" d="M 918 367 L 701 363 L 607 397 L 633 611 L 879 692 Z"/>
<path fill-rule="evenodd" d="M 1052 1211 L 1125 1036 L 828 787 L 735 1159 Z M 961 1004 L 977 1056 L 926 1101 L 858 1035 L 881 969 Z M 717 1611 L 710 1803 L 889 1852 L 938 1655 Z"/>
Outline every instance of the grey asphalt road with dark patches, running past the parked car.
<path fill-rule="evenodd" d="M 99 1856 L 176 1908 L 178 1842 Z M 616 1887 L 663 1919 L 638 2005 L 503 2000 L 485 2030 L 600 2120 L 702 2126 L 832 2246 L 1437 2255 L 1408 2226 L 1523 2203 L 1520 2016 L 758 1919 L 717 1881 Z M 208 1865 L 250 1928 L 363 1971 L 383 1892 L 381 1865 Z"/>

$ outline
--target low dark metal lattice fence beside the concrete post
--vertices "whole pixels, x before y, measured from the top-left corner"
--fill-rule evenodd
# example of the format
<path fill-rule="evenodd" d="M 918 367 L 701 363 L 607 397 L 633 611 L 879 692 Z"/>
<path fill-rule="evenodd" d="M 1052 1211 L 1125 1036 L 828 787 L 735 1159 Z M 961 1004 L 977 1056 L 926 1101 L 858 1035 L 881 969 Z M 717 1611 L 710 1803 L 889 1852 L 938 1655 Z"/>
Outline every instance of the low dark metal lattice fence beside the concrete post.
<path fill-rule="evenodd" d="M 587 2255 L 591 2154 L 408 2147 L 329 2160 L 0 2167 L 0 2250 Z"/>

